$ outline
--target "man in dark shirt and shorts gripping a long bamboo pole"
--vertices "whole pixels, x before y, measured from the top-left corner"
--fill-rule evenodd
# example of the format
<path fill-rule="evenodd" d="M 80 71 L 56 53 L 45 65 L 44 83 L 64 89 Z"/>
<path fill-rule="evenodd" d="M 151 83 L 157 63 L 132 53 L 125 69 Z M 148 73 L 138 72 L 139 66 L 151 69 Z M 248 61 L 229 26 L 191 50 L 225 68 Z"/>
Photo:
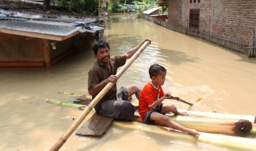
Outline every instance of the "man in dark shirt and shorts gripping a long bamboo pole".
<path fill-rule="evenodd" d="M 95 111 L 106 117 L 117 120 L 133 121 L 135 107 L 128 100 L 128 97 L 135 94 L 139 100 L 141 89 L 137 84 L 122 87 L 117 90 L 117 68 L 123 66 L 126 60 L 132 57 L 143 45 L 146 40 L 130 49 L 125 54 L 110 57 L 110 46 L 104 40 L 99 40 L 92 46 L 94 56 L 97 61 L 89 71 L 88 92 L 92 98 L 97 96 L 99 92 L 112 82 L 115 85 L 107 92 L 107 94 L 95 106 Z"/>

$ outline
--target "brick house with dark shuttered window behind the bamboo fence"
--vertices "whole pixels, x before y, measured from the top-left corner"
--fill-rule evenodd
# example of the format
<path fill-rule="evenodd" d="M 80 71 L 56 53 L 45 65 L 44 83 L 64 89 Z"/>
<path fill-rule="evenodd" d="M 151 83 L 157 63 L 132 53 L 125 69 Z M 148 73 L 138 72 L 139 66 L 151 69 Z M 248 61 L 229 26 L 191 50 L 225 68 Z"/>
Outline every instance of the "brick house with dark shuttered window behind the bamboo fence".
<path fill-rule="evenodd" d="M 256 1 L 159 0 L 157 4 L 168 7 L 168 25 L 194 30 L 193 36 L 256 56 Z"/>

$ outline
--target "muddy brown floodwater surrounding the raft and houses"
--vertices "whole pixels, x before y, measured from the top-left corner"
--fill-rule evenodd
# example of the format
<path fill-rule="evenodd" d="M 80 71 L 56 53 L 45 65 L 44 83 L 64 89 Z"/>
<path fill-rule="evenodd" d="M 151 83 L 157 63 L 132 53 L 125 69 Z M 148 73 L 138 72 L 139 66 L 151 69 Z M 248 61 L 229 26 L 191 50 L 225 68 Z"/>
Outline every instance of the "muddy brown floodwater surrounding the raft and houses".
<path fill-rule="evenodd" d="M 167 68 L 165 91 L 188 102 L 189 108 L 256 115 L 256 61 L 204 40 L 167 30 L 134 15 L 112 15 L 104 33 L 111 54 L 119 55 L 144 38 L 152 43 L 118 81 L 118 88 L 150 80 L 148 68 Z M 88 95 L 92 50 L 79 51 L 55 66 L 0 68 L 0 150 L 48 150 L 79 117 L 81 111 L 46 103 L 46 98 L 72 102 L 70 92 Z M 136 100 L 135 100 L 136 101 Z M 173 100 L 178 109 L 188 105 Z M 87 118 L 86 118 L 87 119 Z M 80 125 L 81 126 L 81 125 Z M 112 125 L 103 137 L 80 137 L 75 132 L 60 150 L 228 150 L 211 144 L 177 140 Z"/>

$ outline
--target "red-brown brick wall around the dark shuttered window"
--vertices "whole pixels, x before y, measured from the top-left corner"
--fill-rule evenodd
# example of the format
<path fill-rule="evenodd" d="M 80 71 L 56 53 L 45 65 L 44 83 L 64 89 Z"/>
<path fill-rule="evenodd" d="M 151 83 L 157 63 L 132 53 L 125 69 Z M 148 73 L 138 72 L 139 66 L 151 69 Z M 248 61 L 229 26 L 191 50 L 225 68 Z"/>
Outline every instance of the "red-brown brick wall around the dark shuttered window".
<path fill-rule="evenodd" d="M 245 39 L 247 42 L 252 38 L 252 31 L 256 26 L 255 0 L 201 0 L 200 3 L 193 2 L 194 0 L 192 3 L 190 0 L 170 0 L 168 23 L 187 27 L 189 9 L 200 9 L 200 30 L 203 30 L 205 24 L 205 30 L 208 32 L 212 30 L 214 34 L 225 34 L 225 36 Z"/>

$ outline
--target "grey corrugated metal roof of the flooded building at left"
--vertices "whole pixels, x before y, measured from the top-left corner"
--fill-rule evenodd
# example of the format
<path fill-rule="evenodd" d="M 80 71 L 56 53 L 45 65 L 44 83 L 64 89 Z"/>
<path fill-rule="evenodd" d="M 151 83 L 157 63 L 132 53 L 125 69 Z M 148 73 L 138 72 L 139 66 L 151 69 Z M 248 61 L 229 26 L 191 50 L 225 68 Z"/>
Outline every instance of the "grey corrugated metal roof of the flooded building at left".
<path fill-rule="evenodd" d="M 2 12 L 6 13 L 6 11 Z M 1 12 L 0 12 L 1 14 Z M 95 22 L 95 18 L 72 18 L 70 16 L 58 16 L 58 18 L 45 18 L 40 15 L 21 13 L 2 13 L 0 16 L 0 32 L 17 34 L 53 40 L 63 40 L 78 34 L 79 32 L 95 32 L 104 28 L 88 25 Z M 77 22 L 83 22 L 86 30 L 82 30 Z"/>

